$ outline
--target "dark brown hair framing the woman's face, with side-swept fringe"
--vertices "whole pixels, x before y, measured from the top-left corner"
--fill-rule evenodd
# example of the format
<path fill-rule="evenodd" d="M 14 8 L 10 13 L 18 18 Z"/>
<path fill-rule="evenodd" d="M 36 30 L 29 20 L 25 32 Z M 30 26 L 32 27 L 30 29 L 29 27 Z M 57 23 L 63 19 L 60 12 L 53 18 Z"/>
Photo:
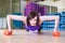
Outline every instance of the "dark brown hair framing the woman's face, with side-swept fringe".
<path fill-rule="evenodd" d="M 27 16 L 27 25 L 30 25 L 29 20 L 37 16 L 37 25 L 39 25 L 39 14 L 36 11 L 31 11 Z"/>

